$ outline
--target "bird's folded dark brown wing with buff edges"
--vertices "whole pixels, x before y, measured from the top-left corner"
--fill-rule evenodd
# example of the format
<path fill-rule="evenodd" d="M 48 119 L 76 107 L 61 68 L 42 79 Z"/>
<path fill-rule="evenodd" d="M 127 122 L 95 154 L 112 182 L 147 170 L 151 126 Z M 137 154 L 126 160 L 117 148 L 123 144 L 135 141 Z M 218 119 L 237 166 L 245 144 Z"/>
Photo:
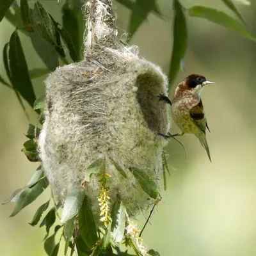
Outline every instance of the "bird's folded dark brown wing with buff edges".
<path fill-rule="evenodd" d="M 190 116 L 193 120 L 193 122 L 198 126 L 198 128 L 205 133 L 206 127 L 209 130 L 209 127 L 207 125 L 207 120 L 205 118 L 204 114 L 204 106 L 202 103 L 202 100 L 200 99 L 200 102 L 190 109 Z M 209 130 L 210 131 L 210 130 Z"/>

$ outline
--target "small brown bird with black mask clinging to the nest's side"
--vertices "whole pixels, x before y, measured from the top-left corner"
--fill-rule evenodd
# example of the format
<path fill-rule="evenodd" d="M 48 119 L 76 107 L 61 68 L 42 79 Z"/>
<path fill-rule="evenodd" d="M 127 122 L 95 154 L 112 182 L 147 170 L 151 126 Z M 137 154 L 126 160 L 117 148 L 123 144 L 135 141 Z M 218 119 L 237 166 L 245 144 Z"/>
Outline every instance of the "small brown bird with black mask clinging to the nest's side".
<path fill-rule="evenodd" d="M 175 95 L 171 101 L 168 97 L 161 94 L 159 100 L 172 106 L 172 117 L 180 131 L 176 134 L 165 135 L 158 133 L 168 139 L 170 137 L 182 136 L 185 133 L 195 134 L 201 145 L 207 152 L 211 161 L 210 150 L 206 140 L 206 129 L 210 132 L 205 116 L 204 106 L 200 93 L 206 84 L 213 84 L 204 76 L 191 74 L 177 85 Z"/>

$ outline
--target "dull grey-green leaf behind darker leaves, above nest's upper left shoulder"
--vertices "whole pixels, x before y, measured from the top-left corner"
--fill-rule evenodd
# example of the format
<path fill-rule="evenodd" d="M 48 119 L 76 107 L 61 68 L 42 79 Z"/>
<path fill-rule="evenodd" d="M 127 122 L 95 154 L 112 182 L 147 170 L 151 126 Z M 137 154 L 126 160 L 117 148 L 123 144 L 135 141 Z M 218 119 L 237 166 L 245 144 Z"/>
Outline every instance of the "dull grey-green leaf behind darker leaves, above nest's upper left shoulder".
<path fill-rule="evenodd" d="M 38 56 L 44 61 L 45 66 L 51 70 L 56 70 L 60 66 L 58 60 L 58 54 L 54 48 L 54 45 L 46 42 L 36 31 L 29 33 L 31 42 Z"/>

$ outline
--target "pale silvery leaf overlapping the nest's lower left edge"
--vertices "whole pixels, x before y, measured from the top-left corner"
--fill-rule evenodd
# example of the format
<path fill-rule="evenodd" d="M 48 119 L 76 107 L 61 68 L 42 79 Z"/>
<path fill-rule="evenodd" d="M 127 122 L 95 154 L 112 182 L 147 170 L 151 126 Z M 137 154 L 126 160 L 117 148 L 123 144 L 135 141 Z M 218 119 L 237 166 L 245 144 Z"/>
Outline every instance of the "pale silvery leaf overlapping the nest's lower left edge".
<path fill-rule="evenodd" d="M 65 199 L 61 215 L 61 223 L 65 223 L 78 213 L 83 204 L 84 196 L 85 193 L 81 184 L 72 184 L 72 187 L 68 189 L 67 197 Z"/>

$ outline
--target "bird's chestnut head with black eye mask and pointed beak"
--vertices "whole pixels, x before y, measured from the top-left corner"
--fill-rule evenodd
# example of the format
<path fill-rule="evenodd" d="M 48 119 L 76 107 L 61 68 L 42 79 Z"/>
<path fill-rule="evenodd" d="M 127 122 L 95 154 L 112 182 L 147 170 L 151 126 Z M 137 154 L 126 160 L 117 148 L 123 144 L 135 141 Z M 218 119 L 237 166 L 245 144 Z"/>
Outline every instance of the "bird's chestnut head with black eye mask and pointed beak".
<path fill-rule="evenodd" d="M 214 82 L 208 81 L 204 76 L 192 74 L 179 84 L 179 88 L 191 92 L 193 95 L 200 95 L 205 84 L 214 84 Z"/>

